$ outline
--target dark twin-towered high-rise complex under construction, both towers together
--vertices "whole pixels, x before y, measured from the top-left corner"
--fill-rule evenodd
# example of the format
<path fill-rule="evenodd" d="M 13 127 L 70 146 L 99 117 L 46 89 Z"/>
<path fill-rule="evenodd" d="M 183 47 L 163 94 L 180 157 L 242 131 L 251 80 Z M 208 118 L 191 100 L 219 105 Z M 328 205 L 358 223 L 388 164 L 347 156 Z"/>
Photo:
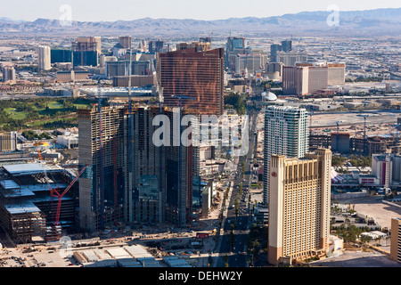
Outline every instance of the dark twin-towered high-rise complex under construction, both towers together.
<path fill-rule="evenodd" d="M 155 145 L 160 126 L 153 119 L 160 111 L 170 122 L 177 116 L 177 110 L 138 105 L 106 107 L 101 114 L 98 108 L 78 110 L 79 165 L 88 165 L 79 183 L 81 228 L 191 223 L 192 146 L 174 146 L 173 124 L 163 134 L 167 145 Z"/>

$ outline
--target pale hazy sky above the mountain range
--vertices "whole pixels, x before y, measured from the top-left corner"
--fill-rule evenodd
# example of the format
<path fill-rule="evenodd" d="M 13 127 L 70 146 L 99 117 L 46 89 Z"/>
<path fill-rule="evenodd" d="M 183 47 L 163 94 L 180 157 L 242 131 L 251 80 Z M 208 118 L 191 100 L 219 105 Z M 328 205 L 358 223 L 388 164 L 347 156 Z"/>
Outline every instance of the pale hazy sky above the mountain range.
<path fill-rule="evenodd" d="M 80 21 L 261 18 L 326 11 L 330 5 L 340 11 L 401 7 L 400 0 L 0 0 L 0 17 L 59 20 L 67 11 L 60 11 L 63 5 L 70 7 L 72 20 Z"/>

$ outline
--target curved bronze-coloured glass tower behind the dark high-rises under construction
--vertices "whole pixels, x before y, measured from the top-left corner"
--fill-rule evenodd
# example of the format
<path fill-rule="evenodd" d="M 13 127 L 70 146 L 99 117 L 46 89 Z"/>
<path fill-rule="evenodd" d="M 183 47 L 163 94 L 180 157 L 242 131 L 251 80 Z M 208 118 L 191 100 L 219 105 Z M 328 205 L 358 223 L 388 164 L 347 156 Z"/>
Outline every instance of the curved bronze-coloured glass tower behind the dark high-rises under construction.
<path fill-rule="evenodd" d="M 224 49 L 196 52 L 188 48 L 158 53 L 158 80 L 164 105 L 204 115 L 223 114 Z"/>

